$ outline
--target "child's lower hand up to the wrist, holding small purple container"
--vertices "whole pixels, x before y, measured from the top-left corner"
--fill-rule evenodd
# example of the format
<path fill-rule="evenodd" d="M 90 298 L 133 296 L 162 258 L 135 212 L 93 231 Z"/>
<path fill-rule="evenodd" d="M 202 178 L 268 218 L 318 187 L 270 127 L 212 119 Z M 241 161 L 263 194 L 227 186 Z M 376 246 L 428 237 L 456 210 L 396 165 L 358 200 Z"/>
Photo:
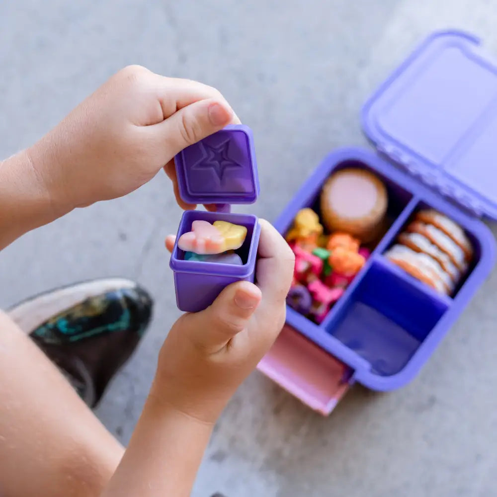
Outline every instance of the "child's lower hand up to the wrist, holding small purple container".
<path fill-rule="evenodd" d="M 267 221 L 260 224 L 257 285 L 234 283 L 208 309 L 174 324 L 151 392 L 159 403 L 215 422 L 281 331 L 294 255 Z M 173 245 L 174 236 L 167 237 L 166 247 Z"/>

